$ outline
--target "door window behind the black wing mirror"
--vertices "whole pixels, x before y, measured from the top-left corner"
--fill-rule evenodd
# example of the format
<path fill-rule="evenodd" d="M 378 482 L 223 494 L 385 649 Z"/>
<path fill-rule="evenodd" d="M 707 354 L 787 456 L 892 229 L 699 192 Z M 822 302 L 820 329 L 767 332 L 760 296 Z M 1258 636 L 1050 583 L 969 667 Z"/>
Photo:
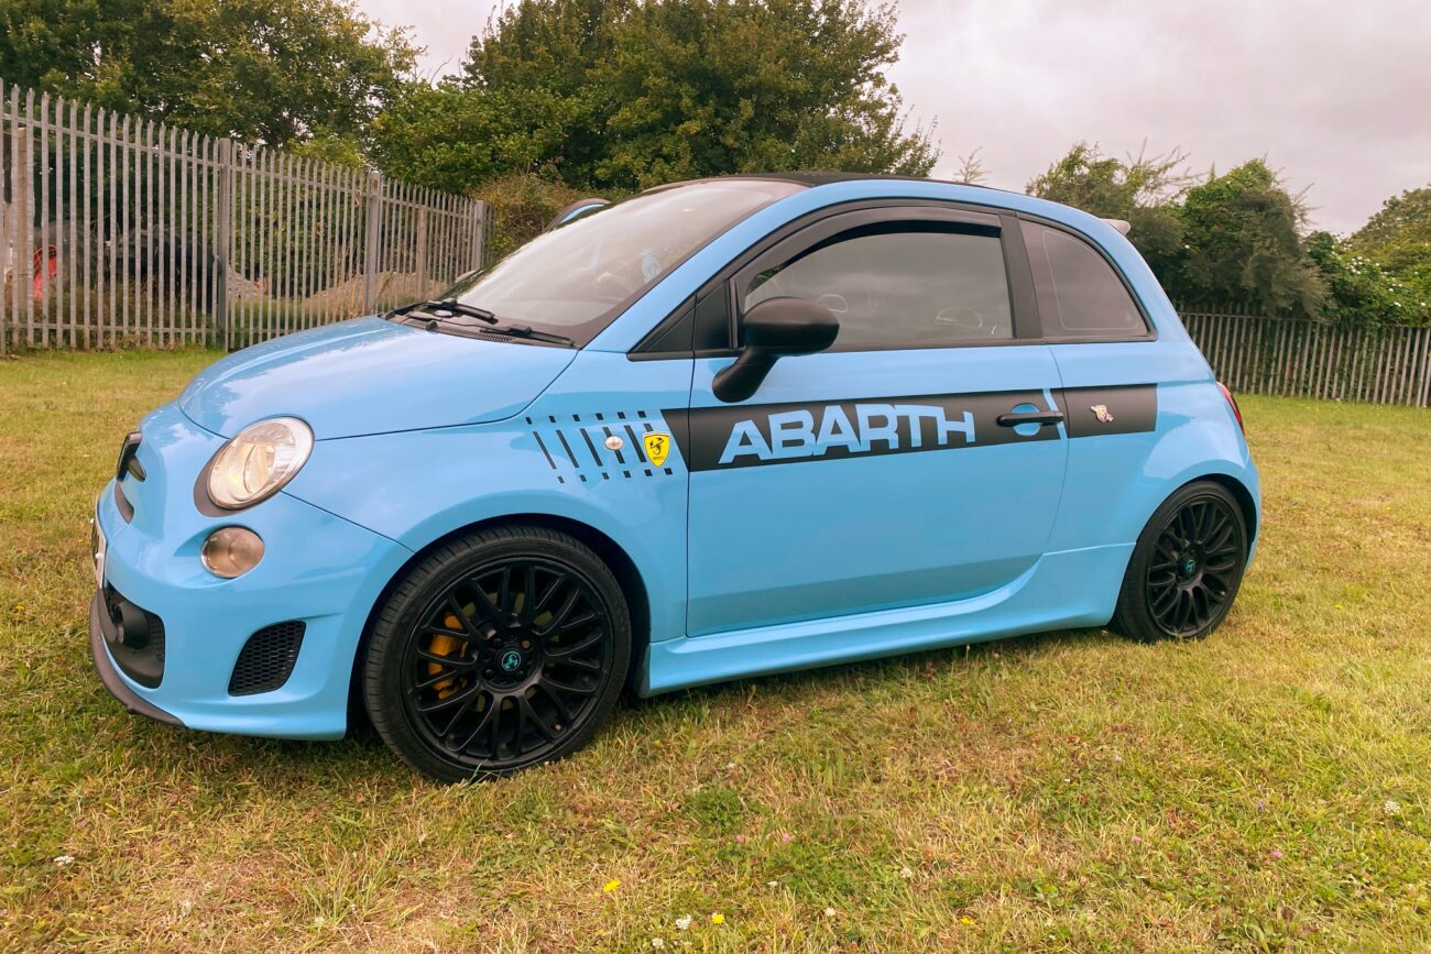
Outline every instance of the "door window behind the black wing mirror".
<path fill-rule="evenodd" d="M 819 302 L 840 319 L 836 348 L 930 348 L 1013 338 L 995 230 L 904 223 L 844 232 L 761 270 L 741 313 L 767 297 Z"/>

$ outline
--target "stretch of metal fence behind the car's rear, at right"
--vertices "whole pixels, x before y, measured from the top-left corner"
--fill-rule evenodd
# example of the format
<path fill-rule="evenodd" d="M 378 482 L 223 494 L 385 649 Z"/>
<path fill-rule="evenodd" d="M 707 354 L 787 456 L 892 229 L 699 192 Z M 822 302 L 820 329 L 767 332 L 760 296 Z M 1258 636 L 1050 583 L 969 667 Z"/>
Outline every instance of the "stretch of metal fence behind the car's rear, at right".
<path fill-rule="evenodd" d="M 1182 312 L 1218 379 L 1245 393 L 1431 406 L 1431 328 L 1347 328 Z"/>

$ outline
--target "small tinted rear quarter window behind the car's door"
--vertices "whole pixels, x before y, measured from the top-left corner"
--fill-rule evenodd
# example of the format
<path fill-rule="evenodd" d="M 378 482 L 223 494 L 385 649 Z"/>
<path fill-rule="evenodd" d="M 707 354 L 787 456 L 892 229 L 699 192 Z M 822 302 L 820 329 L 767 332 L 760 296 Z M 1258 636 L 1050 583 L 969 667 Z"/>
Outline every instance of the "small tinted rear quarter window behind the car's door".
<path fill-rule="evenodd" d="M 1113 267 L 1082 239 L 1020 223 L 1046 338 L 1116 338 L 1148 330 Z"/>

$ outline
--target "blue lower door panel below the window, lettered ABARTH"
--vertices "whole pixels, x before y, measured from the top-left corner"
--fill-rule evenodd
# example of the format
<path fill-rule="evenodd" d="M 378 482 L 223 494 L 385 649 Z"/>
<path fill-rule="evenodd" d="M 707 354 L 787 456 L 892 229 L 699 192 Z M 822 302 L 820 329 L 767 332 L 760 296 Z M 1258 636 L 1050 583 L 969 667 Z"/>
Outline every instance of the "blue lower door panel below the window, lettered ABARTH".
<path fill-rule="evenodd" d="M 691 475 L 691 636 L 967 598 L 1043 554 L 1068 442 L 1058 426 L 1022 436 L 995 418 L 1055 405 L 1046 346 L 791 358 L 736 405 L 711 393 L 728 363 L 697 360 L 691 389 L 691 439 L 708 426 L 747 465 Z M 864 435 L 892 415 L 897 429 L 846 456 L 800 433 Z"/>

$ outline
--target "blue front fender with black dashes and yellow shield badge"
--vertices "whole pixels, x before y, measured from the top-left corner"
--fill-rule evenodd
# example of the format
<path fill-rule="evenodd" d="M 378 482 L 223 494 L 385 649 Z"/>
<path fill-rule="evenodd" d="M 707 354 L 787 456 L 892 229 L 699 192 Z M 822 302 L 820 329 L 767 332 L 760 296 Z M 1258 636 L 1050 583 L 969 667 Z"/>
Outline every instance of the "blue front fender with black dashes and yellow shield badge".
<path fill-rule="evenodd" d="M 685 468 L 675 452 L 648 466 L 635 438 L 670 433 L 663 410 L 683 406 L 690 386 L 690 360 L 584 350 L 517 418 L 319 441 L 286 492 L 414 551 L 514 513 L 582 523 L 645 581 L 651 639 L 673 638 L 685 632 Z M 611 451 L 605 441 L 617 435 L 624 446 Z"/>

